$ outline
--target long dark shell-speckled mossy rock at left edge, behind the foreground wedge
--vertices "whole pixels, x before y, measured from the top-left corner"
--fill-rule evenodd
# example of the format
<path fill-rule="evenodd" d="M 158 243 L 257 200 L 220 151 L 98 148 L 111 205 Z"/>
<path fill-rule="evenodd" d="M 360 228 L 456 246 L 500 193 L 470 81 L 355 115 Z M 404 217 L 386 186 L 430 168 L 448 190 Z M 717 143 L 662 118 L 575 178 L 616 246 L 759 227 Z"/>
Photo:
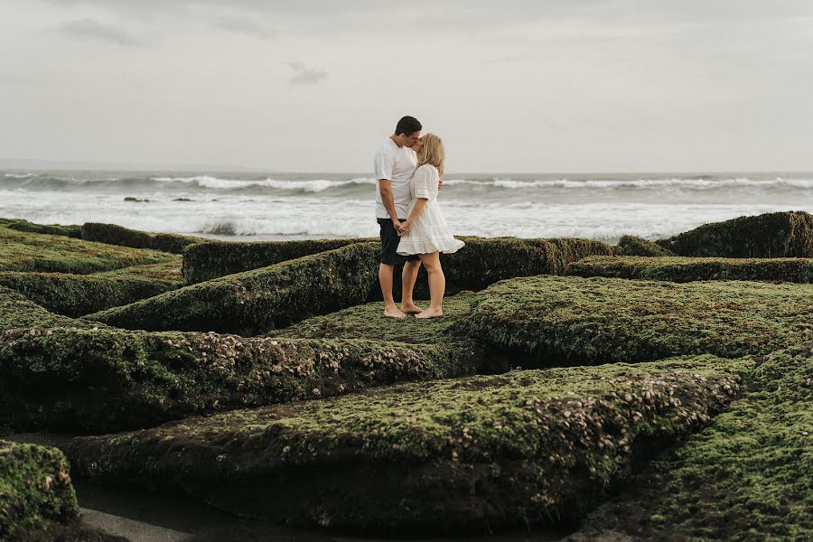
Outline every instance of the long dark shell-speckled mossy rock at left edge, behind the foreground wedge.
<path fill-rule="evenodd" d="M 229 408 L 469 375 L 481 367 L 477 354 L 396 341 L 16 329 L 0 333 L 0 424 L 121 431 Z"/>

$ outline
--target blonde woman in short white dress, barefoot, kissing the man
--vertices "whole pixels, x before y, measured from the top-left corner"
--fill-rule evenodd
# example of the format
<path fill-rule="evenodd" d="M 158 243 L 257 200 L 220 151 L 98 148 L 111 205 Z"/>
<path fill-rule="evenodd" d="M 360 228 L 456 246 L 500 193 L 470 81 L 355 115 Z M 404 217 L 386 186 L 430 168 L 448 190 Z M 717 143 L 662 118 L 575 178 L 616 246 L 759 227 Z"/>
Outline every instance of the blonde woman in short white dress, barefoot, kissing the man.
<path fill-rule="evenodd" d="M 444 290 L 446 278 L 440 264 L 440 253 L 452 254 L 463 248 L 463 241 L 455 239 L 446 224 L 437 191 L 440 177 L 444 174 L 444 142 L 435 134 L 421 137 L 423 147 L 418 153 L 418 167 L 409 190 L 412 202 L 407 210 L 408 218 L 401 222 L 397 253 L 401 256 L 417 254 L 429 275 L 429 307 L 416 314 L 416 318 L 437 318 L 444 315 Z"/>

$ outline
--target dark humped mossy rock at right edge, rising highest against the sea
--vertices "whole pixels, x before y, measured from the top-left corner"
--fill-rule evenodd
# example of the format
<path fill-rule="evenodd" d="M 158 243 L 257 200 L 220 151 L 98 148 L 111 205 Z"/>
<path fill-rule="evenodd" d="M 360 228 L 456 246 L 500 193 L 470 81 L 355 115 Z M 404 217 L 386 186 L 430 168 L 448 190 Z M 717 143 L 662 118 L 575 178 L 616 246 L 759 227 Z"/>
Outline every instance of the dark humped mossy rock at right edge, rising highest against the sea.
<path fill-rule="evenodd" d="M 656 242 L 678 256 L 813 257 L 813 215 L 787 211 L 740 217 Z"/>

